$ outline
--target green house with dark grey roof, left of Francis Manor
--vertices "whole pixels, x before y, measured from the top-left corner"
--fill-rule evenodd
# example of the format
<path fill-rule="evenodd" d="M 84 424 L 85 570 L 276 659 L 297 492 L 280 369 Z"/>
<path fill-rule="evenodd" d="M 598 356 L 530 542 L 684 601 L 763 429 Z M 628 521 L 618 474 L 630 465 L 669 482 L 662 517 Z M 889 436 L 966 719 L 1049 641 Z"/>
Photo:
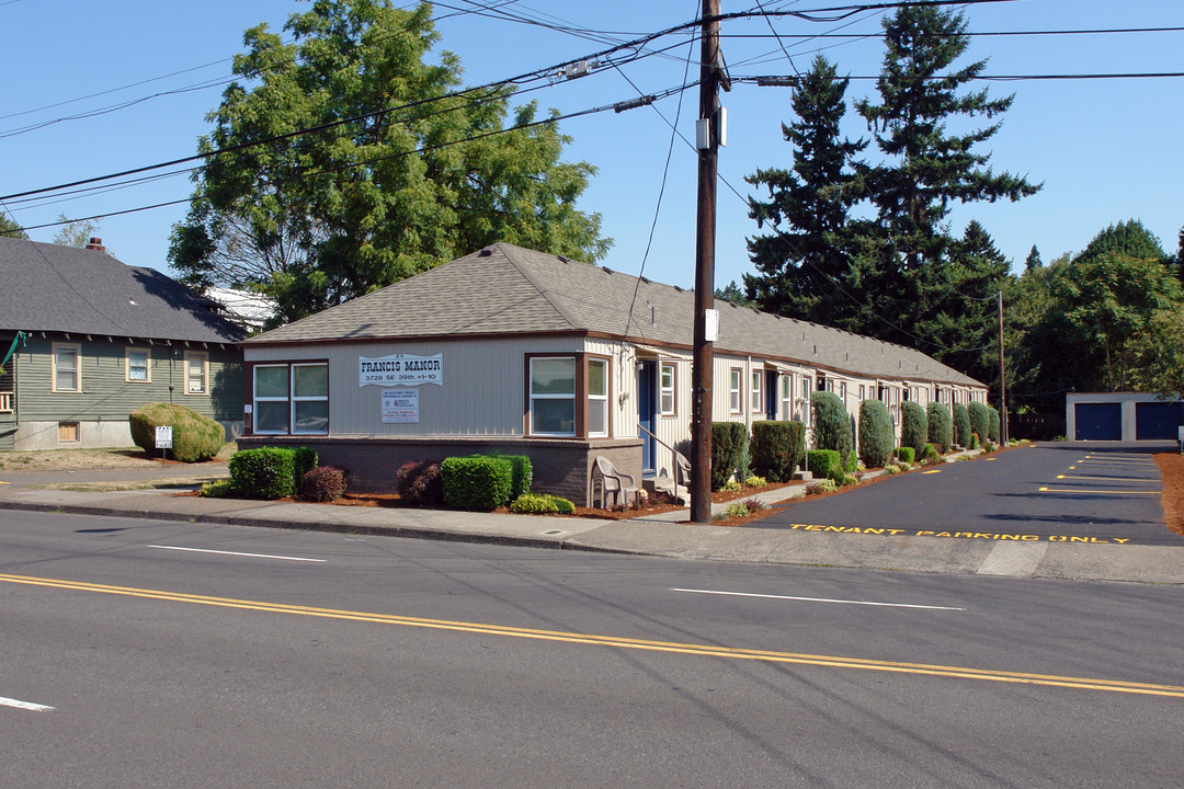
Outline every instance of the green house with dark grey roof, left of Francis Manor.
<path fill-rule="evenodd" d="M 0 238 L 0 450 L 131 446 L 128 414 L 178 402 L 243 429 L 244 330 L 166 274 Z"/>

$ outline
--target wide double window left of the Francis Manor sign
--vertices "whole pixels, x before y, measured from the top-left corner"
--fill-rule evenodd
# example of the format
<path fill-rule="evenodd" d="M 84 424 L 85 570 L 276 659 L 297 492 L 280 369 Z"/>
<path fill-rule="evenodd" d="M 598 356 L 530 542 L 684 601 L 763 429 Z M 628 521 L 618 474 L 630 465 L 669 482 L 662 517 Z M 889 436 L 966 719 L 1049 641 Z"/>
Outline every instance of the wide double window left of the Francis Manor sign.
<path fill-rule="evenodd" d="M 329 432 L 329 366 L 324 362 L 256 364 L 255 432 L 318 435 Z"/>

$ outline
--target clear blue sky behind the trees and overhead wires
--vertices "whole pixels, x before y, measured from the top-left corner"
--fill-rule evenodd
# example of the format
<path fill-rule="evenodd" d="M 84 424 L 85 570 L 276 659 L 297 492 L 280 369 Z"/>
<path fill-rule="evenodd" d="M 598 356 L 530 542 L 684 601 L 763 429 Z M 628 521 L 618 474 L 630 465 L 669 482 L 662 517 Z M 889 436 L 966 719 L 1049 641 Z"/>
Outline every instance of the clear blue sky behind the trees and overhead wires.
<path fill-rule="evenodd" d="M 448 0 L 446 5 L 474 7 L 465 0 Z M 757 5 L 757 0 L 722 0 L 722 11 L 747 11 Z M 806 12 L 842 4 L 761 0 L 761 5 L 768 11 Z M 699 6 L 700 0 L 523 0 L 504 9 L 570 27 L 609 31 L 609 38 L 624 40 L 690 21 Z M 0 194 L 192 155 L 198 136 L 210 128 L 205 115 L 218 104 L 221 91 L 221 85 L 195 86 L 229 77 L 229 58 L 242 48 L 245 28 L 268 21 L 278 30 L 290 13 L 304 7 L 307 4 L 296 0 L 0 0 L 0 26 L 7 32 L 0 51 L 7 77 L 0 106 Z M 438 7 L 437 13 L 452 12 Z M 880 71 L 881 13 L 863 12 L 830 22 L 773 19 L 772 27 L 783 37 L 792 65 L 771 38 L 768 22 L 732 21 L 723 28 L 725 59 L 733 77 L 791 75 L 794 69 L 807 70 L 813 56 L 822 52 L 838 65 L 839 73 L 852 77 L 849 103 L 874 99 L 873 79 L 862 77 L 874 78 Z M 1184 27 L 1184 2 L 1179 0 L 1014 0 L 969 6 L 965 14 L 976 33 Z M 533 71 L 606 46 L 604 38 L 588 40 L 472 13 L 443 18 L 437 27 L 440 47 L 459 56 L 468 84 Z M 835 33 L 851 38 L 809 38 Z M 545 109 L 566 114 L 636 98 L 637 90 L 655 93 L 682 85 L 684 58 L 689 53 L 697 59 L 697 44 L 690 48 L 686 35 L 667 37 L 658 44 L 677 46 L 619 71 L 606 67 L 580 79 L 559 80 L 532 97 Z M 1184 71 L 1180 51 L 1184 32 L 980 35 L 973 39 L 969 58 L 989 59 L 985 73 L 1000 76 L 1151 73 Z M 691 65 L 689 78 L 697 78 L 697 65 Z M 1156 233 L 1169 253 L 1176 251 L 1177 233 L 1184 225 L 1184 147 L 1178 142 L 1184 128 L 1184 78 L 980 85 L 993 97 L 1015 93 L 1002 131 L 987 144 L 993 168 L 1027 174 L 1044 188 L 1017 203 L 955 207 L 952 232 L 960 233 L 967 221 L 977 219 L 1017 267 L 1034 244 L 1049 261 L 1080 251 L 1107 225 L 1132 218 Z M 167 91 L 180 92 L 148 98 Z M 96 93 L 102 95 L 92 96 Z M 82 98 L 86 96 L 91 98 Z M 144 101 L 110 110 L 136 99 Z M 719 164 L 723 182 L 719 187 L 718 286 L 752 272 L 745 238 L 757 228 L 732 189 L 753 194 L 744 181 L 746 175 L 758 168 L 791 164 L 780 123 L 792 119 L 787 88 L 736 84 L 722 101 L 729 121 L 728 145 L 721 150 Z M 678 131 L 693 141 L 696 109 L 697 90 L 693 89 L 686 92 L 681 112 L 678 98 L 673 96 L 654 108 L 600 112 L 561 124 L 574 138 L 565 159 L 599 168 L 581 208 L 600 213 L 604 234 L 614 240 L 603 265 L 632 274 L 642 271 L 670 145 L 668 122 L 677 117 Z M 63 119 L 89 114 L 95 115 Z M 848 134 L 868 136 L 854 114 Z M 875 153 L 869 151 L 869 157 L 875 160 Z M 683 286 L 694 280 L 695 177 L 695 154 L 676 138 L 644 267 L 651 279 Z M 11 201 L 7 208 L 19 222 L 32 226 L 56 221 L 59 213 L 78 218 L 181 200 L 191 190 L 185 176 L 174 176 L 84 199 Z M 185 211 L 185 205 L 178 205 L 110 216 L 99 220 L 99 234 L 124 263 L 167 270 L 168 234 Z M 30 235 L 49 241 L 56 229 L 32 229 Z"/>

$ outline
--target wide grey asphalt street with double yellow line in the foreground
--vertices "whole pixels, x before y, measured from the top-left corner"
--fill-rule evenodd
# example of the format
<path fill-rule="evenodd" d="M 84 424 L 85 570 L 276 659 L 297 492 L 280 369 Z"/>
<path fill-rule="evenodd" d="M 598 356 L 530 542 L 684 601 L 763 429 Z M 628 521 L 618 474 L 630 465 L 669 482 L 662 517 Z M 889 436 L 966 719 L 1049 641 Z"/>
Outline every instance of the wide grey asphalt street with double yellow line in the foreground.
<path fill-rule="evenodd" d="M 5 512 L 0 785 L 1175 787 L 1179 606 Z"/>

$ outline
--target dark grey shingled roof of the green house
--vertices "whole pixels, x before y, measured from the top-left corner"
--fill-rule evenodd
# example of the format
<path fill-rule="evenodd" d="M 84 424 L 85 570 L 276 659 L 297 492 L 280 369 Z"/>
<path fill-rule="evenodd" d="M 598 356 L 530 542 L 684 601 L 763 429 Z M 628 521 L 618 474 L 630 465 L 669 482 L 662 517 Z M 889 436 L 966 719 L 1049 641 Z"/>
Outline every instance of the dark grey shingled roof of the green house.
<path fill-rule="evenodd" d="M 155 269 L 107 252 L 0 238 L 0 330 L 236 343 L 243 329 Z"/>

